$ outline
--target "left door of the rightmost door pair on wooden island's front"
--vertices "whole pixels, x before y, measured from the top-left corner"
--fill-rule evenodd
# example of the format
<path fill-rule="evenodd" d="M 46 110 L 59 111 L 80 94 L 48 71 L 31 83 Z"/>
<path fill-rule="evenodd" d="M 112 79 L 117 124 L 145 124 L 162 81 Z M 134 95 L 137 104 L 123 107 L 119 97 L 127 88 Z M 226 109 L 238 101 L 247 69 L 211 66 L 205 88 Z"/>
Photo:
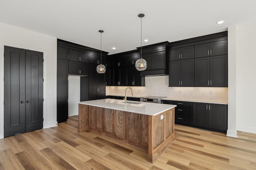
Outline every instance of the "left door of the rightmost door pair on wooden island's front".
<path fill-rule="evenodd" d="M 139 114 L 126 112 L 126 140 L 139 143 Z"/>

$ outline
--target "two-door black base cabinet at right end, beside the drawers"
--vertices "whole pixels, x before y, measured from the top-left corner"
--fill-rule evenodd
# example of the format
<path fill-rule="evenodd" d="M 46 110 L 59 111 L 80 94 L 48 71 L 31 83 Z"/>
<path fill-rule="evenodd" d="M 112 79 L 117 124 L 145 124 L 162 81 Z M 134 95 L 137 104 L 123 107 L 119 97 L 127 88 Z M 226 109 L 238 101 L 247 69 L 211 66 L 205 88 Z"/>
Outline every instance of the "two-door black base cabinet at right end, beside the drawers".
<path fill-rule="evenodd" d="M 193 103 L 193 125 L 226 132 L 228 107 L 224 104 Z"/>

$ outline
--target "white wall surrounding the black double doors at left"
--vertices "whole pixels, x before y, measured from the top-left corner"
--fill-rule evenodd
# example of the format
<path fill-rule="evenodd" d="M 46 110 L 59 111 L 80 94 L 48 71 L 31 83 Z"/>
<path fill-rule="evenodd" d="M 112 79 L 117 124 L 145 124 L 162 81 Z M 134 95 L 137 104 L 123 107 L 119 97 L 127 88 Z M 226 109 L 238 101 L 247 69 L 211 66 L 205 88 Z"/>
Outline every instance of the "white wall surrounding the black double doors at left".
<path fill-rule="evenodd" d="M 56 126 L 57 38 L 4 23 L 0 30 L 0 139 L 4 137 L 4 45 L 44 53 L 43 128 Z"/>

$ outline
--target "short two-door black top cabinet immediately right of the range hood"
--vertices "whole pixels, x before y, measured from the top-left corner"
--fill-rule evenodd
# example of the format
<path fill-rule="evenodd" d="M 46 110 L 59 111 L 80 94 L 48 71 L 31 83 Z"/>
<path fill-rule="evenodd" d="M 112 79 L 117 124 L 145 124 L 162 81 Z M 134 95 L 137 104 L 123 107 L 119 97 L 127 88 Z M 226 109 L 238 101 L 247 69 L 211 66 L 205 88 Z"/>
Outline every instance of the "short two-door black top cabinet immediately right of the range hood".
<path fill-rule="evenodd" d="M 194 46 L 171 49 L 169 51 L 169 61 L 194 58 Z"/>

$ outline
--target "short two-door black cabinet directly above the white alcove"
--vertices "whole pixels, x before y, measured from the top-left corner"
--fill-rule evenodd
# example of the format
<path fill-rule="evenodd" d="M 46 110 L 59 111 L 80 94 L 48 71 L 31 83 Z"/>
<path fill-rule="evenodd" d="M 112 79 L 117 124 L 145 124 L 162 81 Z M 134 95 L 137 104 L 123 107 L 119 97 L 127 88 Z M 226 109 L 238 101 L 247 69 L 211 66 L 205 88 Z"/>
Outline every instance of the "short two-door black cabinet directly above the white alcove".
<path fill-rule="evenodd" d="M 77 61 L 68 62 L 68 74 L 88 76 L 89 75 L 88 72 L 89 72 L 89 64 L 80 63 Z"/>

